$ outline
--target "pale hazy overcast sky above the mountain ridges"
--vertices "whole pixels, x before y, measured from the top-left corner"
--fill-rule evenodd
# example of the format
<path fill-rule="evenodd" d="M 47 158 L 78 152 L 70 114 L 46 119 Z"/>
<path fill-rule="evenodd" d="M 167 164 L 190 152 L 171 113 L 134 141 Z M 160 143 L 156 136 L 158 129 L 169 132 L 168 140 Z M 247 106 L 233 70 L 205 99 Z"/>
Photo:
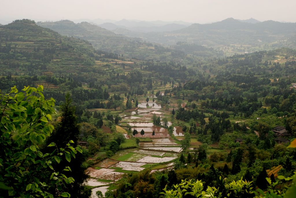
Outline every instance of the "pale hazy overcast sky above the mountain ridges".
<path fill-rule="evenodd" d="M 296 22 L 295 7 L 295 0 L 1 0 L 0 23 L 22 18 L 207 23 L 229 17 Z"/>

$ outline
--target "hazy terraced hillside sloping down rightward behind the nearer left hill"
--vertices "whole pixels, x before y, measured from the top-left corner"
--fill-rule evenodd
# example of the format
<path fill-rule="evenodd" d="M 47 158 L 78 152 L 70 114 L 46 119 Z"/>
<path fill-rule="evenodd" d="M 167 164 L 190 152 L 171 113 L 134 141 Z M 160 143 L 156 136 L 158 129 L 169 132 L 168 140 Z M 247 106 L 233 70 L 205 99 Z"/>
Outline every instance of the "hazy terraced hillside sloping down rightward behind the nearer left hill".
<path fill-rule="evenodd" d="M 57 22 L 39 22 L 38 25 L 50 28 L 65 36 L 74 36 L 89 41 L 95 49 L 121 54 L 124 57 L 139 60 L 171 61 L 181 60 L 186 54 L 199 57 L 222 55 L 222 51 L 208 49 L 200 45 L 180 43 L 178 46 L 162 46 L 157 42 L 146 42 L 142 38 L 127 37 L 115 34 L 109 30 L 92 25 L 88 22 L 75 24 L 69 20 Z M 192 48 L 184 53 L 184 48 Z"/>

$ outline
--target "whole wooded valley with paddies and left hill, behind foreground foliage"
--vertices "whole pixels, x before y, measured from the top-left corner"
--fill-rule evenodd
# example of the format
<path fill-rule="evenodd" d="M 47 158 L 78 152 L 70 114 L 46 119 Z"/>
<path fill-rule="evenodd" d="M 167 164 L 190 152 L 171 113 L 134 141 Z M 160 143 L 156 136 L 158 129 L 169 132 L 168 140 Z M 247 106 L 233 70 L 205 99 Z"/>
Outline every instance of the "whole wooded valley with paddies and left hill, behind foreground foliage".
<path fill-rule="evenodd" d="M 58 112 L 70 94 L 90 188 L 107 192 L 116 180 L 109 197 L 161 197 L 166 184 L 175 190 L 184 179 L 201 180 L 200 192 L 225 186 L 215 193 L 247 180 L 282 195 L 291 184 L 277 176 L 296 168 L 295 149 L 287 148 L 295 138 L 295 50 L 154 61 L 98 51 L 30 20 L 0 33 L 2 93 L 44 85 Z M 59 115 L 51 122 L 56 128 Z M 282 143 L 271 131 L 277 125 L 290 134 Z"/>

